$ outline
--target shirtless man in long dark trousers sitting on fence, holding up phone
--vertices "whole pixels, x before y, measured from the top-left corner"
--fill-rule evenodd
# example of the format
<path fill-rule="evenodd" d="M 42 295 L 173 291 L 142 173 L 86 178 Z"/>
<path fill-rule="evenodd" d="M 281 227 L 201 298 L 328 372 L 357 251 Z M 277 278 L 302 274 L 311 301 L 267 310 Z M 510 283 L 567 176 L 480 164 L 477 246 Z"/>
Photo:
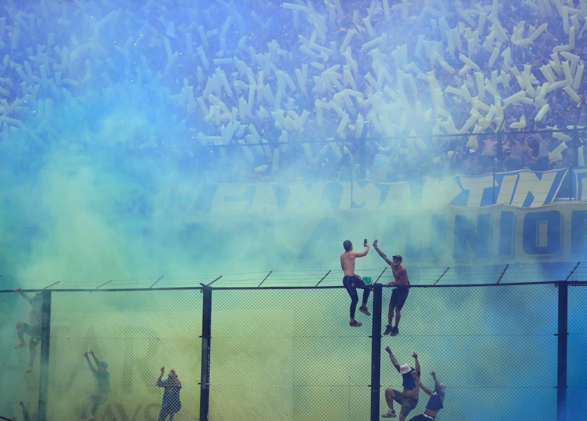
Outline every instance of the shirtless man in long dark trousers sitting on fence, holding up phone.
<path fill-rule="evenodd" d="M 350 240 L 345 240 L 342 243 L 342 247 L 345 248 L 343 254 L 340 255 L 340 266 L 342 267 L 345 276 L 342 278 L 342 284 L 346 288 L 346 292 L 350 295 L 350 322 L 349 325 L 353 328 L 358 328 L 362 325 L 361 322 L 355 320 L 355 310 L 357 308 L 357 302 L 359 302 L 359 296 L 357 295 L 357 288 L 363 289 L 363 302 L 359 307 L 359 311 L 370 316 L 371 313 L 367 309 L 367 299 L 371 289 L 368 285 L 363 284 L 363 281 L 359 275 L 355 273 L 355 259 L 357 257 L 366 256 L 369 252 L 369 242 L 365 240 L 365 250 L 353 251 L 353 243 Z"/>

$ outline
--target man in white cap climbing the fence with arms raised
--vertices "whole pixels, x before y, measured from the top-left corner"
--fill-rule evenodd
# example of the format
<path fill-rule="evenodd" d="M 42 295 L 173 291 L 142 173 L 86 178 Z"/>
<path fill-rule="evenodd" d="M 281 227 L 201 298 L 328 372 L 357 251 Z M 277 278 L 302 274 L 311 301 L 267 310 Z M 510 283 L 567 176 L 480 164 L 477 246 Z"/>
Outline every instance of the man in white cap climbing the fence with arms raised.
<path fill-rule="evenodd" d="M 385 400 L 387 406 L 389 406 L 389 410 L 384 413 L 382 417 L 394 418 L 396 416 L 396 412 L 393 409 L 393 401 L 395 400 L 401 405 L 399 421 L 404 421 L 410 411 L 418 404 L 418 398 L 420 395 L 420 385 L 416 383 L 416 380 L 414 380 L 414 376 L 412 375 L 412 372 L 416 372 L 417 377 L 420 377 L 420 362 L 418 361 L 418 354 L 416 352 L 412 354 L 415 360 L 414 365 L 416 366 L 416 368 L 413 368 L 410 367 L 409 364 L 399 365 L 389 346 L 385 347 L 385 351 L 389 354 L 389 358 L 392 360 L 392 364 L 397 372 L 402 375 L 403 392 L 392 388 L 385 389 Z"/>

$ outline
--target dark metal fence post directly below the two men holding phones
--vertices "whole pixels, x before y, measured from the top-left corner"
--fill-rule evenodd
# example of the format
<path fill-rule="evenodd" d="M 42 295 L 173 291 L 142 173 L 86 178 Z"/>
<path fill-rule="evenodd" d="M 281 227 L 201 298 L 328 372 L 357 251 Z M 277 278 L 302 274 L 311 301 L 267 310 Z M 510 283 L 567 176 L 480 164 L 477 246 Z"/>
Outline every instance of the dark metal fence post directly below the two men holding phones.
<path fill-rule="evenodd" d="M 379 421 L 381 396 L 381 302 L 383 285 L 373 284 L 373 327 L 371 332 L 371 421 Z"/>

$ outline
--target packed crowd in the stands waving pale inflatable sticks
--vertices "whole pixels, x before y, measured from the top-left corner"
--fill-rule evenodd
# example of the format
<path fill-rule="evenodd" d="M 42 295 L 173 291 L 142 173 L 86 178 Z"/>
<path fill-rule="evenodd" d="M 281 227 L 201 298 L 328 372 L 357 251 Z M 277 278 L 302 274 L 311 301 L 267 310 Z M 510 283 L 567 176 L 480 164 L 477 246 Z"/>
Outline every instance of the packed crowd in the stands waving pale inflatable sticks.
<path fill-rule="evenodd" d="M 483 20 L 481 8 L 487 9 L 487 15 L 496 3 L 497 19 L 511 39 L 519 22 L 526 22 L 524 31 L 531 25 L 528 33 L 542 23 L 548 27 L 525 45 L 494 41 L 486 48 L 483 39 L 494 36 L 496 24 L 490 26 L 487 19 L 474 28 L 469 19 L 474 17 L 475 24 Z M 569 9 L 561 11 L 558 0 L 545 3 L 550 12 L 531 1 L 481 1 L 471 5 L 478 16 L 472 13 L 465 18 L 460 2 L 448 1 L 394 5 L 387 0 L 258 1 L 249 8 L 218 1 L 201 13 L 179 9 L 174 2 L 147 2 L 141 9 L 117 9 L 103 16 L 90 14 L 107 9 L 106 2 L 48 1 L 40 6 L 41 11 L 29 3 L 8 2 L 4 6 L 8 19 L 0 18 L 0 42 L 11 48 L 4 56 L 5 76 L 0 79 L 6 97 L 0 101 L 2 130 L 25 133 L 38 141 L 32 142 L 34 146 L 45 144 L 45 138 L 59 136 L 59 127 L 52 126 L 49 114 L 55 106 L 47 98 L 58 102 L 75 97 L 78 104 L 89 104 L 97 101 L 96 93 L 134 95 L 139 90 L 177 114 L 179 135 L 166 139 L 168 127 L 153 121 L 154 137 L 148 141 L 133 137 L 123 140 L 124 146 L 165 149 L 170 159 L 188 156 L 212 181 L 348 180 L 359 176 L 357 167 L 363 161 L 369 169 L 367 177 L 379 181 L 481 174 L 493 169 L 546 170 L 568 166 L 573 160 L 582 165 L 584 132 L 579 132 L 577 149 L 571 147 L 568 134 L 512 131 L 587 126 L 583 82 L 576 89 L 579 101 L 564 89 L 545 93 L 549 110 L 540 119 L 536 105 L 512 101 L 506 106 L 504 102 L 503 118 L 487 122 L 483 130 L 475 131 L 476 136 L 433 136 L 463 132 L 458 128 L 467 124 L 473 110 L 477 112 L 470 98 L 447 92 L 447 87 L 460 89 L 470 82 L 470 96 L 479 95 L 460 53 L 466 52 L 467 42 L 463 42 L 464 49 L 447 46 L 443 22 L 454 28 L 451 31 L 458 31 L 459 39 L 467 38 L 469 29 L 479 29 L 468 59 L 485 80 L 495 79 L 496 72 L 504 78 L 503 69 L 521 72 L 524 65 L 531 65 L 532 85 L 538 90 L 546 82 L 539 67 L 549 63 L 553 49 L 568 43 L 572 46 L 561 50 L 579 57 L 573 70 L 581 78 L 578 68 L 582 72 L 583 60 L 587 60 L 587 31 L 573 24 L 573 41 L 569 41 L 570 23 L 564 25 L 568 18 L 562 16 Z M 41 18 L 35 21 L 35 14 L 53 16 L 59 31 L 44 29 L 39 25 Z M 76 19 L 95 23 L 85 30 L 76 28 Z M 73 31 L 71 38 L 68 29 Z M 365 47 L 382 36 L 383 41 Z M 434 49 L 434 42 L 442 42 L 442 58 L 430 59 L 423 53 Z M 492 54 L 494 44 L 502 52 L 498 56 Z M 506 47 L 509 55 L 504 55 Z M 400 67 L 398 63 L 406 60 L 409 65 Z M 465 68 L 459 71 L 463 63 Z M 347 66 L 345 72 L 350 73 L 344 73 L 343 80 L 325 77 L 328 69 L 333 69 L 332 75 Z M 372 76 L 377 66 L 386 70 Z M 400 77 L 400 72 L 405 76 L 409 71 L 417 77 Z M 426 76 L 430 74 L 443 92 L 444 115 L 433 104 L 433 85 Z M 222 79 L 227 83 L 222 85 Z M 494 84 L 502 99 L 524 90 L 516 79 Z M 350 87 L 352 93 L 337 97 Z M 154 91 L 156 95 L 151 95 Z M 407 121 L 400 122 L 406 118 L 400 113 L 402 98 L 410 110 Z M 39 104 L 46 118 L 35 125 L 31 117 Z M 413 112 L 419 108 L 420 112 Z M 521 122 L 522 116 L 524 124 L 518 124 L 518 129 L 511 126 Z M 387 120 L 392 128 L 386 126 Z M 359 140 L 363 126 L 364 149 Z M 464 132 L 473 133 L 474 127 Z M 500 129 L 509 133 L 502 137 L 502 153 L 498 154 L 495 132 Z"/>

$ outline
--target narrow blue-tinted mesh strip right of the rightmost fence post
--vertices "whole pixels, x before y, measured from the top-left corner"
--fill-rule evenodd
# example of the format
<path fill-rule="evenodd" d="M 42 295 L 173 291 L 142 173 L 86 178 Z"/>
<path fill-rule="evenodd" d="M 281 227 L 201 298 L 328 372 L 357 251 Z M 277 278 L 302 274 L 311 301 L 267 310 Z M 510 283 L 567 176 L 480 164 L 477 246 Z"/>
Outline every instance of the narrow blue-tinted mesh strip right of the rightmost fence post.
<path fill-rule="evenodd" d="M 568 353 L 567 353 L 567 410 L 569 419 L 581 419 L 587 413 L 587 287 L 569 287 Z"/>

